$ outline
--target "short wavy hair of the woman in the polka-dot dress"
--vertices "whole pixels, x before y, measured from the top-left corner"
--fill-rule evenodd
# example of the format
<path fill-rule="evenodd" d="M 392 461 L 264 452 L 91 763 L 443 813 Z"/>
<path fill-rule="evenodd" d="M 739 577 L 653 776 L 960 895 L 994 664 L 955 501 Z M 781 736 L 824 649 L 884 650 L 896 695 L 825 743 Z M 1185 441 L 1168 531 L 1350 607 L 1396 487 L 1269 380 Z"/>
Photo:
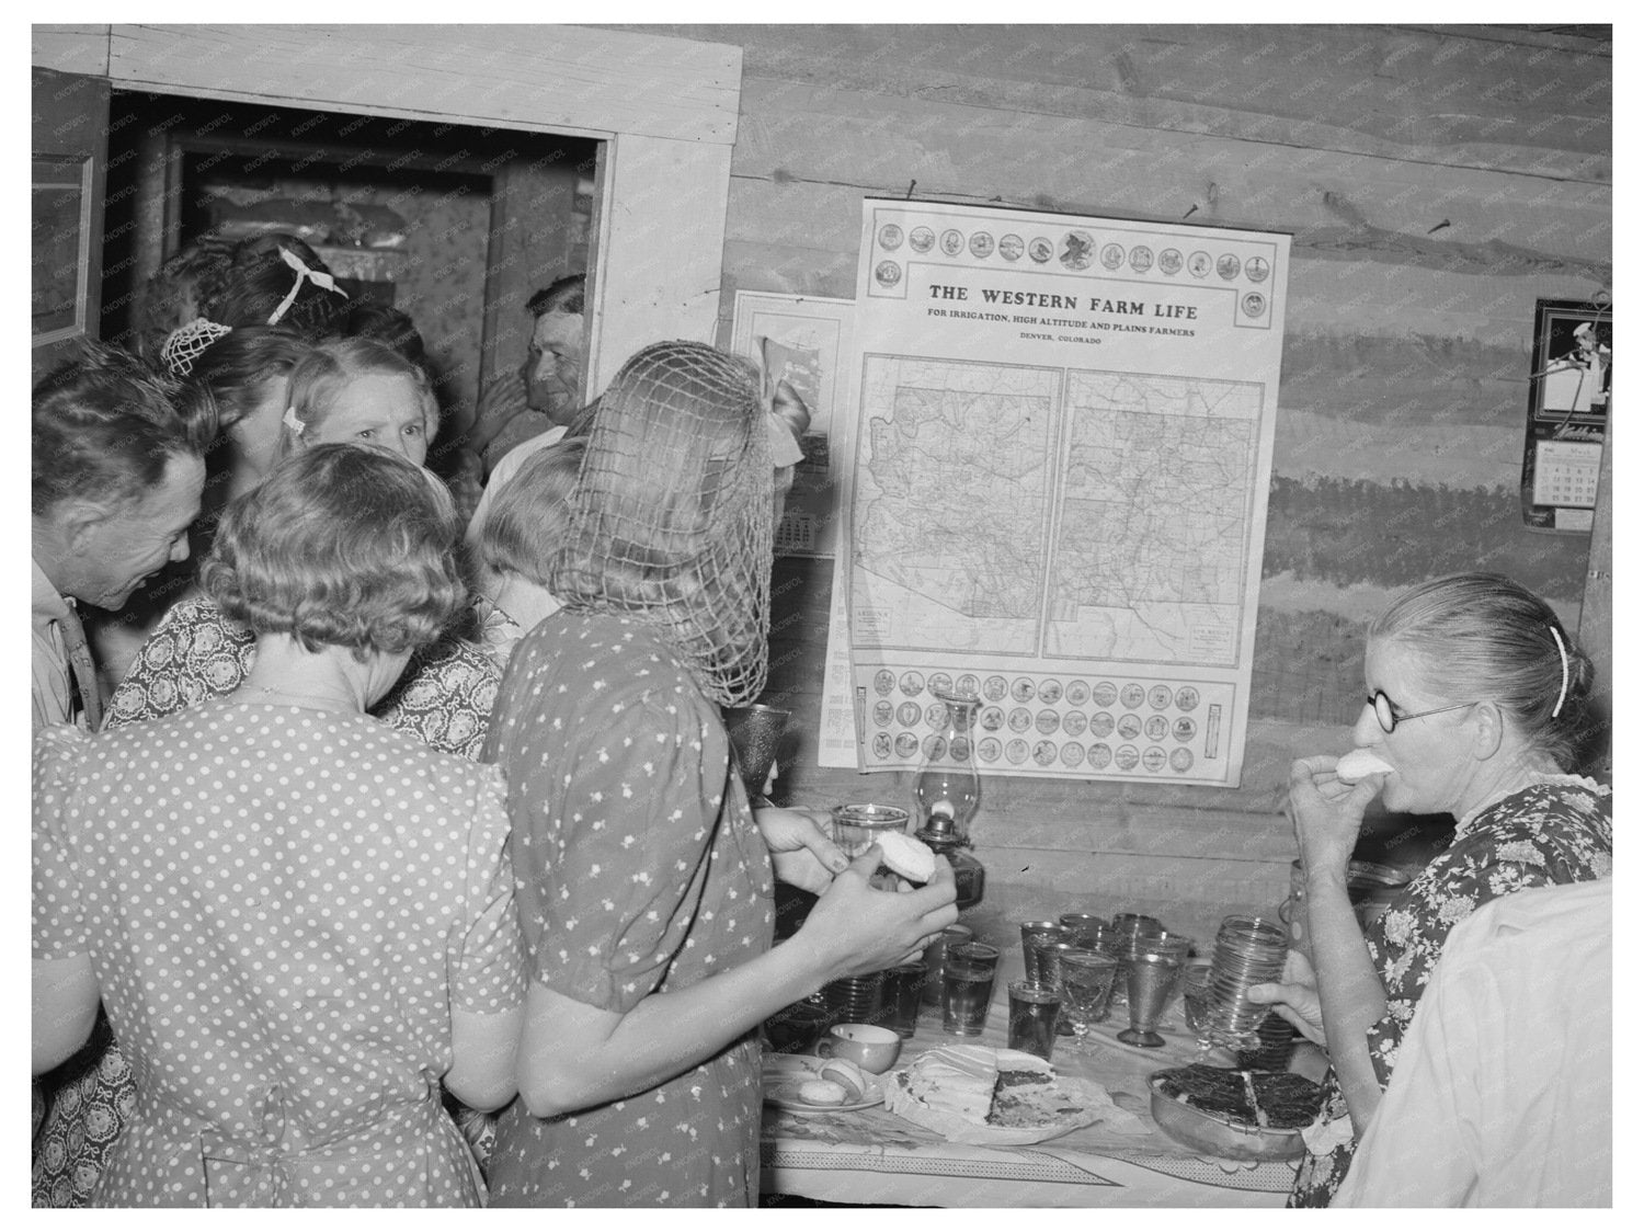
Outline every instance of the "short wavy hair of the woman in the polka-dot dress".
<path fill-rule="evenodd" d="M 462 607 L 459 535 L 450 493 L 421 467 L 322 444 L 229 507 L 201 581 L 256 633 L 398 655 L 434 641 Z"/>

